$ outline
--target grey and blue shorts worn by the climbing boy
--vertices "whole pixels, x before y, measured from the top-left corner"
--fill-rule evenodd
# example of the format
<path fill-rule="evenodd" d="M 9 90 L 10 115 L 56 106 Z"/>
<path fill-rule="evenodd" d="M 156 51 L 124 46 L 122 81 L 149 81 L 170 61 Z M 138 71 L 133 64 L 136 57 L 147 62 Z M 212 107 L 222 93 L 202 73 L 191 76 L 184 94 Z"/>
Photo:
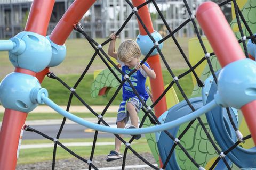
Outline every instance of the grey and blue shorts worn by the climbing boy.
<path fill-rule="evenodd" d="M 143 97 L 141 97 L 141 98 L 142 98 L 142 100 L 145 101 L 145 99 Z M 129 100 L 122 101 L 120 103 L 120 106 L 118 109 L 116 122 L 121 122 L 122 120 L 124 120 L 124 123 L 127 124 L 128 120 L 129 120 L 129 113 L 126 109 L 127 103 L 131 103 L 135 107 L 137 113 L 139 113 L 139 111 L 142 107 L 142 104 L 137 96 L 134 96 L 134 97 L 130 98 Z"/>

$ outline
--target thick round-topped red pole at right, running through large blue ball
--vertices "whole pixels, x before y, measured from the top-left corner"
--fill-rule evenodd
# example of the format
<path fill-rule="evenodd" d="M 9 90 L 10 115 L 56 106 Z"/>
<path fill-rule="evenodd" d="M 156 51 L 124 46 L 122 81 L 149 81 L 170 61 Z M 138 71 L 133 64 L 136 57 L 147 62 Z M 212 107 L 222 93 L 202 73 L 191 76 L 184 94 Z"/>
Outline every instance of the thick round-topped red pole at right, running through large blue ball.
<path fill-rule="evenodd" d="M 217 4 L 213 2 L 203 3 L 197 9 L 196 18 L 209 39 L 222 67 L 246 58 Z M 244 105 L 241 110 L 256 145 L 256 101 Z"/>

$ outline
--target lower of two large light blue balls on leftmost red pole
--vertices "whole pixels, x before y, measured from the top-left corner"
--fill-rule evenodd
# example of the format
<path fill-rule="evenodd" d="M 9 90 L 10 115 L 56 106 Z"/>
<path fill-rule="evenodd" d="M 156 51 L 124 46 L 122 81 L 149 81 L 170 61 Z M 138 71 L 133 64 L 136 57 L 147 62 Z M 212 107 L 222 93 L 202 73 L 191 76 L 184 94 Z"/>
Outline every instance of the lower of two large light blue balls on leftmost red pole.
<path fill-rule="evenodd" d="M 0 103 L 7 109 L 31 112 L 38 106 L 38 103 L 30 99 L 30 93 L 34 88 L 41 88 L 36 77 L 17 72 L 10 73 L 0 83 Z"/>

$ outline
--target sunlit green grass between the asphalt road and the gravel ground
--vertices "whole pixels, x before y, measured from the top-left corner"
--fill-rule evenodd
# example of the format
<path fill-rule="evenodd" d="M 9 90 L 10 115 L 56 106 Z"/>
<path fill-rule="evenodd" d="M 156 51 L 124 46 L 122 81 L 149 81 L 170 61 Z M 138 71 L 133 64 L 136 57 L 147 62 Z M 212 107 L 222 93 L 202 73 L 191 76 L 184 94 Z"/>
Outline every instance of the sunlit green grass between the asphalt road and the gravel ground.
<path fill-rule="evenodd" d="M 128 141 L 130 138 L 124 138 L 124 140 Z M 61 143 L 64 142 L 93 142 L 93 139 L 61 139 Z M 98 138 L 97 142 L 114 142 L 113 138 Z M 132 145 L 132 148 L 139 153 L 150 152 L 149 146 L 147 145 L 146 138 L 141 138 L 140 140 L 134 141 L 136 144 Z M 39 144 L 39 143 L 52 143 L 50 140 L 23 140 L 22 145 L 26 144 Z M 76 154 L 84 157 L 85 159 L 90 158 L 91 154 L 91 146 L 82 146 L 82 147 L 68 147 Z M 106 146 L 96 146 L 94 156 L 98 155 L 107 155 L 110 150 L 113 150 L 114 145 L 106 145 Z M 121 152 L 123 152 L 125 146 L 121 146 Z M 41 148 L 41 149 L 21 149 L 20 155 L 18 159 L 18 164 L 28 164 L 35 162 L 42 162 L 46 160 L 52 160 L 53 148 Z M 57 149 L 57 159 L 68 159 L 75 158 L 70 155 L 66 150 L 58 147 Z"/>

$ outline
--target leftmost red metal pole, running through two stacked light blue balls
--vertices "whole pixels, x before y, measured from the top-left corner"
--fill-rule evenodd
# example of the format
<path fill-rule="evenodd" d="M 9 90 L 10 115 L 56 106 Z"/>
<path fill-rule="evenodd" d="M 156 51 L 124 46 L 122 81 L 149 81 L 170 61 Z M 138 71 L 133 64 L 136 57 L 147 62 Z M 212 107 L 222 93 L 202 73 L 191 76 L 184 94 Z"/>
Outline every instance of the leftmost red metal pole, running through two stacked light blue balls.
<path fill-rule="evenodd" d="M 54 0 L 34 0 L 29 13 L 25 31 L 35 32 L 46 36 Z M 19 70 L 30 74 L 28 71 Z M 31 74 L 30 74 L 31 75 Z M 35 73 L 33 73 L 35 76 Z M 22 139 L 22 127 L 25 124 L 27 113 L 5 109 L 0 131 L 0 169 L 15 170 L 19 154 L 19 142 Z"/>

